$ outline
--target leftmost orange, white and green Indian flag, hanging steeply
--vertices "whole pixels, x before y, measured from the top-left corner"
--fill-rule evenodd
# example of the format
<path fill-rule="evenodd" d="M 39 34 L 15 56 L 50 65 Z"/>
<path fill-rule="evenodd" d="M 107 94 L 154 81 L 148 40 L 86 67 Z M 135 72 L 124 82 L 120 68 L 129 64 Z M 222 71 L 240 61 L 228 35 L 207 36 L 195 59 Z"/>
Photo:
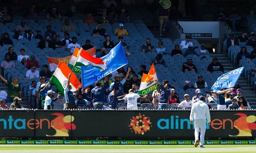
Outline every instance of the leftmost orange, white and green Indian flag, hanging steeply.
<path fill-rule="evenodd" d="M 64 96 L 64 88 L 68 83 L 68 77 L 70 73 L 71 69 L 65 63 L 60 62 L 50 80 L 50 83 L 55 84 L 56 88 L 62 96 Z M 72 86 L 71 91 L 75 91 L 79 87 L 79 85 L 82 86 L 82 84 L 73 72 L 70 77 L 70 85 Z"/>

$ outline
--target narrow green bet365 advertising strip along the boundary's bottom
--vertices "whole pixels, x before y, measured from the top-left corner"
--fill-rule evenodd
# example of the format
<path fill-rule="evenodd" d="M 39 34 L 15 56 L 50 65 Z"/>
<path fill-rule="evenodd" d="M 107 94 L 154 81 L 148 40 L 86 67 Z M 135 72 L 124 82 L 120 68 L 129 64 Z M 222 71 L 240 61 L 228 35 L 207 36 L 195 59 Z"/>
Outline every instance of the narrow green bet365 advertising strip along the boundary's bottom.
<path fill-rule="evenodd" d="M 206 140 L 204 145 L 255 145 L 256 140 Z M 2 140 L 0 145 L 194 145 L 191 140 L 140 141 L 140 140 Z"/>

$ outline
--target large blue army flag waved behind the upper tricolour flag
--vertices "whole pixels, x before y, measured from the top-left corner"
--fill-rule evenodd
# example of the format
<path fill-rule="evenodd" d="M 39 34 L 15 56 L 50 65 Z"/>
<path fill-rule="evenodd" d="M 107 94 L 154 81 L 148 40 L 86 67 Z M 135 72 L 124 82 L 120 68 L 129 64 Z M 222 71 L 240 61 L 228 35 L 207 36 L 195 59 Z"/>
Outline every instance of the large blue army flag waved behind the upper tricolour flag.
<path fill-rule="evenodd" d="M 107 68 L 105 70 L 95 68 L 92 66 L 82 66 L 81 76 L 82 85 L 87 87 L 96 81 L 104 78 L 106 75 L 112 73 L 113 71 L 119 69 L 120 67 L 128 64 L 122 43 L 119 43 L 114 47 L 109 54 L 101 57 L 103 61 L 106 62 Z"/>

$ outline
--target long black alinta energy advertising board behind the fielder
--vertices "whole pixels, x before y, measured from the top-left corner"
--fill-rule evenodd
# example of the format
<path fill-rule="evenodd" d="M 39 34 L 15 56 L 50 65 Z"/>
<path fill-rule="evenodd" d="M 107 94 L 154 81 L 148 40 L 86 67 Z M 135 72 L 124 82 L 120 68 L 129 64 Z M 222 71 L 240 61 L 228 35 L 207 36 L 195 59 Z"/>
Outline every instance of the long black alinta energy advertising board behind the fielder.
<path fill-rule="evenodd" d="M 0 137 L 194 137 L 195 131 L 189 121 L 189 110 L 1 110 L 0 113 L 0 130 L 4 131 Z M 254 110 L 210 111 L 211 125 L 207 125 L 205 137 L 256 137 L 255 114 Z"/>

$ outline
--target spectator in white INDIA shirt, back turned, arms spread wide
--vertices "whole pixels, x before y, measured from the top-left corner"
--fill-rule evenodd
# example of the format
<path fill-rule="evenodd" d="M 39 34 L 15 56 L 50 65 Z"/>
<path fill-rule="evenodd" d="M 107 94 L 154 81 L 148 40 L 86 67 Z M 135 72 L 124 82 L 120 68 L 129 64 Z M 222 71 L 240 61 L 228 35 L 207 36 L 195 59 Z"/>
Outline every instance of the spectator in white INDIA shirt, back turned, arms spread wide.
<path fill-rule="evenodd" d="M 118 99 L 118 101 L 125 101 L 127 100 L 127 108 L 128 109 L 138 109 L 137 107 L 137 99 L 143 100 L 146 97 L 140 97 L 138 94 L 133 93 L 134 90 L 130 89 L 129 94 L 125 95 L 123 99 Z"/>

